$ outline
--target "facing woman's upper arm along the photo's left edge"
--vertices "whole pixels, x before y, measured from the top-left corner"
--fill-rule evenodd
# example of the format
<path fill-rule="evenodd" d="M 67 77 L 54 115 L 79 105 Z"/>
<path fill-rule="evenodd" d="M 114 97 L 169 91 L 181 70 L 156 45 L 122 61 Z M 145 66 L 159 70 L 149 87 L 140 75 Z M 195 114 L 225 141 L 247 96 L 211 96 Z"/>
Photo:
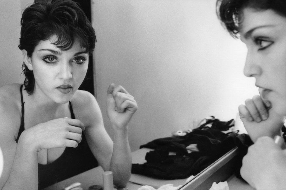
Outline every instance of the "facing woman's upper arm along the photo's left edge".
<path fill-rule="evenodd" d="M 15 157 L 17 143 L 15 130 L 18 129 L 21 119 L 18 108 L 10 101 L 4 101 L 0 96 L 0 146 L 4 157 L 4 168 L 0 178 L 0 189 L 6 183 Z"/>

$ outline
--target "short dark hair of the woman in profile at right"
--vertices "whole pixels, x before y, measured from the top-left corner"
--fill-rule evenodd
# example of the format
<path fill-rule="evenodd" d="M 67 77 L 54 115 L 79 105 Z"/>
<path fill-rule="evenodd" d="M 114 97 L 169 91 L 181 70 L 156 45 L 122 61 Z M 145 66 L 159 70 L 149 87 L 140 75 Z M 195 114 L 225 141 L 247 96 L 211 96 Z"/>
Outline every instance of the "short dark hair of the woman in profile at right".
<path fill-rule="evenodd" d="M 257 11 L 271 9 L 286 17 L 286 0 L 217 0 L 217 16 L 234 38 L 240 38 L 242 10 L 247 7 Z"/>

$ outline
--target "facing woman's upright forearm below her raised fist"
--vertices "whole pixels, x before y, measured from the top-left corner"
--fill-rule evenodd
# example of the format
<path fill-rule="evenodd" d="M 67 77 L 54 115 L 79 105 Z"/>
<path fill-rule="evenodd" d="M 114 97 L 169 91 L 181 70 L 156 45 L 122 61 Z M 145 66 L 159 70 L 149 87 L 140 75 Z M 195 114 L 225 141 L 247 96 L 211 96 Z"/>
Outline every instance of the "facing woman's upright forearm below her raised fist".
<path fill-rule="evenodd" d="M 114 184 L 119 187 L 124 187 L 130 179 L 132 166 L 127 129 L 114 131 L 113 144 L 110 171 L 113 172 Z"/>

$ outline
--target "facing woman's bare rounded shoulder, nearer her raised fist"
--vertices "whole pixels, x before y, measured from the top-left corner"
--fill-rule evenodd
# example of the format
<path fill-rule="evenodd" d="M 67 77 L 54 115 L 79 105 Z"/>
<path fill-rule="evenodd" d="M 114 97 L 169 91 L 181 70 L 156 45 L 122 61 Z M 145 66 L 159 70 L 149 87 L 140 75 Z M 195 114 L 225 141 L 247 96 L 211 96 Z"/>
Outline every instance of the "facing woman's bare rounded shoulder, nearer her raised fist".
<path fill-rule="evenodd" d="M 71 99 L 71 103 L 76 119 L 85 122 L 85 126 L 91 126 L 95 122 L 102 121 L 101 110 L 95 97 L 90 92 L 77 90 Z"/>

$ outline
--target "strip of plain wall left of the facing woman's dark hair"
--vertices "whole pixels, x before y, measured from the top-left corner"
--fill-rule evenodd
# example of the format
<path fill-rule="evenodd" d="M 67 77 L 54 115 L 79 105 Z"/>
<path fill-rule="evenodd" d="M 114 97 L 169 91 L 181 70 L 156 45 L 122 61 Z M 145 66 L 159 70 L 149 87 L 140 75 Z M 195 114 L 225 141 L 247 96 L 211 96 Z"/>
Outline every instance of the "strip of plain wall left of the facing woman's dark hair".
<path fill-rule="evenodd" d="M 21 30 L 21 1 L 0 0 L 0 7 L 0 86 L 22 83 L 24 80 L 21 75 L 23 58 L 18 48 Z"/>

